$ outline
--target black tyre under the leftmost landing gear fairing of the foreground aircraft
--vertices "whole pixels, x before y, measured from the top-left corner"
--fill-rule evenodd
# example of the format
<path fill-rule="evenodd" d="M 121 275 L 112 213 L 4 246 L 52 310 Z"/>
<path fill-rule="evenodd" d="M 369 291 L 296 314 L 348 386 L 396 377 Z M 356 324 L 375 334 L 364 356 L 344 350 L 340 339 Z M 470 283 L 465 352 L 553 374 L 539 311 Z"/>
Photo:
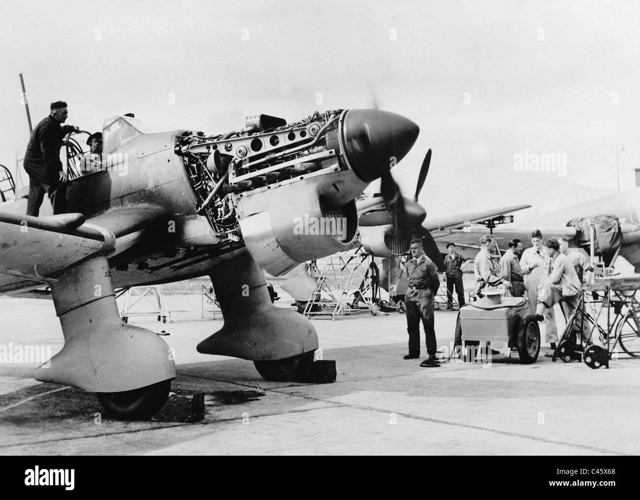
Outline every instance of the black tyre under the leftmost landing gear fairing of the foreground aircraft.
<path fill-rule="evenodd" d="M 171 380 L 121 393 L 96 393 L 108 414 L 119 420 L 148 420 L 166 403 Z"/>

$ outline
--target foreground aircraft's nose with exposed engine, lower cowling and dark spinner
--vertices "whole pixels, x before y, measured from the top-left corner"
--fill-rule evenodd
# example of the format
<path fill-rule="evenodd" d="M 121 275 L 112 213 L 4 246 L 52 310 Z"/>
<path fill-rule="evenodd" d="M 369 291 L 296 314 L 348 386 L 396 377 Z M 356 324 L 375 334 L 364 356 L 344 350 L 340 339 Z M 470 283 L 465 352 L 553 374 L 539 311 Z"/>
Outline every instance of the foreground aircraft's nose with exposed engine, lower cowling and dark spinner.
<path fill-rule="evenodd" d="M 415 123 L 385 111 L 316 112 L 289 124 L 261 114 L 219 136 L 184 132 L 176 153 L 218 237 L 243 240 L 278 276 L 351 246 L 354 199 L 417 134 Z"/>

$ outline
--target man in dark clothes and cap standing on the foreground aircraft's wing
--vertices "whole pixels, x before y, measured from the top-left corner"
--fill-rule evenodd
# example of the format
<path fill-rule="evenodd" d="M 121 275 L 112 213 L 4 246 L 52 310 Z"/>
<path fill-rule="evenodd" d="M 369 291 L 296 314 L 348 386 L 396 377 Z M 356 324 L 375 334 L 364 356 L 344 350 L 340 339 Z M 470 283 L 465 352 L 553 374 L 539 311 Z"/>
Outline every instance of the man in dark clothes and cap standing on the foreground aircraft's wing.
<path fill-rule="evenodd" d="M 56 101 L 51 104 L 51 114 L 40 121 L 31 134 L 27 152 L 24 155 L 24 169 L 29 174 L 29 201 L 27 215 L 38 217 L 45 192 L 49 195 L 54 215 L 66 214 L 67 174 L 62 169 L 60 148 L 62 139 L 78 127 L 60 123 L 67 120 L 67 103 Z"/>

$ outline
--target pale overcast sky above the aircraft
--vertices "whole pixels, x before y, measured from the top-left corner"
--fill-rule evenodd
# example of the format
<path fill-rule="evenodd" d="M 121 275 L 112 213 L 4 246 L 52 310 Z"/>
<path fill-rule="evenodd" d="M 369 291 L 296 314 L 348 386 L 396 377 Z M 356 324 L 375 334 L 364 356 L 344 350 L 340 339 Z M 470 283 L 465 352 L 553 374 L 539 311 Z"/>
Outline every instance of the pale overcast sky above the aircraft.
<path fill-rule="evenodd" d="M 371 107 L 420 126 L 394 169 L 429 215 L 531 203 L 538 212 L 634 186 L 640 166 L 640 3 L 629 1 L 7 1 L 0 3 L 0 163 L 54 100 L 101 130 L 238 129 L 266 113 Z M 316 104 L 321 94 L 322 104 Z M 175 96 L 175 104 L 171 98 Z M 515 171 L 566 155 L 566 175 Z M 597 207 L 595 207 L 597 211 Z"/>

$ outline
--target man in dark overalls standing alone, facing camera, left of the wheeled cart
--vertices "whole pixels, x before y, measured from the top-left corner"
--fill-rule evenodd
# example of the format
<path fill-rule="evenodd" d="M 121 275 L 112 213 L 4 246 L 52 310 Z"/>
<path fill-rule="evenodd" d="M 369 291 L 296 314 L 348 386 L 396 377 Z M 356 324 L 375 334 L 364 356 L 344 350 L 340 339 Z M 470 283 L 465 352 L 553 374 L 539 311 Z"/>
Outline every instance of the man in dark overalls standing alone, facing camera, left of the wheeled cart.
<path fill-rule="evenodd" d="M 420 357 L 420 320 L 429 357 L 425 361 L 436 360 L 436 333 L 433 329 L 433 298 L 440 287 L 438 269 L 422 251 L 422 240 L 411 240 L 412 258 L 406 263 L 407 286 L 404 304 L 406 306 L 406 331 L 409 334 L 409 354 L 404 359 Z"/>

